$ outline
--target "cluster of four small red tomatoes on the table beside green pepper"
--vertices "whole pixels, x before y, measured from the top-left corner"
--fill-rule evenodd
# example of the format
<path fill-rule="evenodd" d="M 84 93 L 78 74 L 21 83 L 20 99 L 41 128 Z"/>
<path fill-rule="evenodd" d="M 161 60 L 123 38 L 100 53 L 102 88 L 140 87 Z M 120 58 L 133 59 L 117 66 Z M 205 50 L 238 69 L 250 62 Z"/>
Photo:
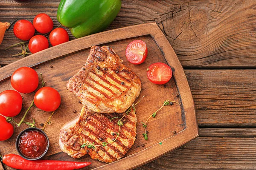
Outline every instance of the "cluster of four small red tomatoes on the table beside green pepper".
<path fill-rule="evenodd" d="M 29 40 L 29 51 L 34 54 L 49 47 L 46 37 L 43 35 L 35 35 L 35 30 L 41 34 L 49 35 L 49 40 L 52 46 L 69 41 L 69 35 L 63 28 L 53 28 L 53 21 L 47 14 L 38 14 L 33 20 L 33 24 L 28 20 L 18 20 L 14 27 L 13 32 L 17 38 L 23 41 Z"/>

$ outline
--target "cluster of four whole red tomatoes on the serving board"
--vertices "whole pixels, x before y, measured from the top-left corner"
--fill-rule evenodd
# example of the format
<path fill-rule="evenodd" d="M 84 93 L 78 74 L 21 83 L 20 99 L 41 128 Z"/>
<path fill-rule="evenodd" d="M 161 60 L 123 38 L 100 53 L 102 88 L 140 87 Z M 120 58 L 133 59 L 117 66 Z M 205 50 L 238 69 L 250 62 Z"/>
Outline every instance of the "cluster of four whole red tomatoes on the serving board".
<path fill-rule="evenodd" d="M 20 113 L 23 98 L 20 93 L 32 93 L 38 88 L 39 78 L 35 70 L 29 67 L 18 68 L 11 77 L 11 85 L 16 90 L 6 90 L 0 93 L 0 141 L 9 139 L 14 128 L 6 122 L 7 117 Z M 20 92 L 20 93 L 19 93 Z M 34 104 L 43 111 L 55 111 L 61 104 L 61 96 L 54 88 L 40 88 L 34 96 Z"/>

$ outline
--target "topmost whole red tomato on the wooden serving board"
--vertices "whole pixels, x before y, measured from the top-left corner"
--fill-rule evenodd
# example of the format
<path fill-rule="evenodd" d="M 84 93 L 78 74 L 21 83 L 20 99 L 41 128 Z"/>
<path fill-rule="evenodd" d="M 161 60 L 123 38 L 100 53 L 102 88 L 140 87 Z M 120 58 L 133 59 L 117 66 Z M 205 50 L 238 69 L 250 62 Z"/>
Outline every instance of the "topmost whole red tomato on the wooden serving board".
<path fill-rule="evenodd" d="M 20 93 L 31 93 L 35 91 L 38 83 L 37 72 L 29 67 L 18 68 L 11 77 L 12 87 Z"/>

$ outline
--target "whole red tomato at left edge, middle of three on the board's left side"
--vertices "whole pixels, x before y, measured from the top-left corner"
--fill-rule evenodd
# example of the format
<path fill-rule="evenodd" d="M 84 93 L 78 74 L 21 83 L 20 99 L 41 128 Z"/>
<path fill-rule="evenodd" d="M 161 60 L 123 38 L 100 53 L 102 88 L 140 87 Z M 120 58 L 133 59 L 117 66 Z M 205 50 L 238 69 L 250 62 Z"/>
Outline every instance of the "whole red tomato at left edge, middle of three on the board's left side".
<path fill-rule="evenodd" d="M 0 93 L 0 113 L 3 116 L 14 117 L 20 113 L 22 97 L 17 91 L 7 90 Z"/>

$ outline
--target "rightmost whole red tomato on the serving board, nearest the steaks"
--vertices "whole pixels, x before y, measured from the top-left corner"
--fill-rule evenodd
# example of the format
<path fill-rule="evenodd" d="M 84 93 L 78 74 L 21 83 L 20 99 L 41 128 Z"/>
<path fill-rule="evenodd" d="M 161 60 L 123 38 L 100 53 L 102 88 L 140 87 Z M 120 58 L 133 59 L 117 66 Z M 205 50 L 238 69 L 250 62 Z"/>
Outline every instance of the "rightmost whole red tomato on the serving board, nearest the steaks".
<path fill-rule="evenodd" d="M 43 111 L 55 111 L 61 104 L 61 95 L 54 88 L 40 88 L 34 97 L 36 107 Z"/>

